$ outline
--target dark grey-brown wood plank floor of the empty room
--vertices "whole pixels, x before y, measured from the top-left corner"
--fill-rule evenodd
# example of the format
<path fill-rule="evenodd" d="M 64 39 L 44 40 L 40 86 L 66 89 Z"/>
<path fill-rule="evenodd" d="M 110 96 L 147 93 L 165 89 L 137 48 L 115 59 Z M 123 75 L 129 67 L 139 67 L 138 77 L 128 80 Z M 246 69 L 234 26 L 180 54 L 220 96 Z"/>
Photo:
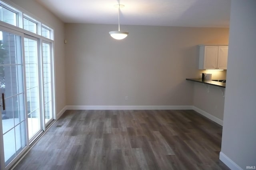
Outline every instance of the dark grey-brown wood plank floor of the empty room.
<path fill-rule="evenodd" d="M 193 110 L 68 110 L 15 170 L 229 170 L 221 137 Z"/>

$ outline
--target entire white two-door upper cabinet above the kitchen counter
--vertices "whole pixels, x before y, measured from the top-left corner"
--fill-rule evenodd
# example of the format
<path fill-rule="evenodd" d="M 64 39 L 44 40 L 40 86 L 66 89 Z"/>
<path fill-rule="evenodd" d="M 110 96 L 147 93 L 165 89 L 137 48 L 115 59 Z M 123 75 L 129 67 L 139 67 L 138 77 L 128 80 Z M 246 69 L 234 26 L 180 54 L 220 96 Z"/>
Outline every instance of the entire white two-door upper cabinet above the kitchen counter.
<path fill-rule="evenodd" d="M 200 45 L 199 69 L 227 69 L 228 46 Z"/>

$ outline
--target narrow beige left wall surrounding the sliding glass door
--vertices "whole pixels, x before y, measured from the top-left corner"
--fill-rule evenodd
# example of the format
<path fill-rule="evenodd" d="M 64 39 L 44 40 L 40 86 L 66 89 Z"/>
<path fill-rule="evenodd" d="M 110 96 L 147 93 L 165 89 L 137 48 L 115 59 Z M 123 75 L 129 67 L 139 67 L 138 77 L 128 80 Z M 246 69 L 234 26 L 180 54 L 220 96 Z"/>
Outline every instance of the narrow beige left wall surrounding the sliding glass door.
<path fill-rule="evenodd" d="M 56 86 L 56 114 L 66 106 L 64 23 L 34 0 L 11 0 L 14 5 L 28 12 L 42 23 L 54 29 L 54 67 Z M 10 1 L 6 1 L 7 3 Z"/>

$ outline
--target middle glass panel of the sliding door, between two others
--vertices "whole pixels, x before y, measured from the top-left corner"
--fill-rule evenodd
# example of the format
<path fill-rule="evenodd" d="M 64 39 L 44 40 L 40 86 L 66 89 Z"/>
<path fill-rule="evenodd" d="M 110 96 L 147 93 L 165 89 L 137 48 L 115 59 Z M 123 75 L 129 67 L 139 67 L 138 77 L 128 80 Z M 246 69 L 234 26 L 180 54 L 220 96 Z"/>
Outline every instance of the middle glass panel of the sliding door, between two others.
<path fill-rule="evenodd" d="M 32 140 L 42 130 L 38 82 L 38 40 L 24 38 L 28 137 Z"/>

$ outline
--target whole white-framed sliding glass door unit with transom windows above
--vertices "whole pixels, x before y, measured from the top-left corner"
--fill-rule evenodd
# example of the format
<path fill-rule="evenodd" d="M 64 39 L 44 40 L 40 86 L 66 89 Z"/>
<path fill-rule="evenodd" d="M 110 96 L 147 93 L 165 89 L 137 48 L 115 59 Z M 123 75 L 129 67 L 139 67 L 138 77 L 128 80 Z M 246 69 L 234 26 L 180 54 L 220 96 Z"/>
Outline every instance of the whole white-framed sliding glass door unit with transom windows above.
<path fill-rule="evenodd" d="M 0 170 L 55 118 L 54 31 L 0 0 Z"/>

